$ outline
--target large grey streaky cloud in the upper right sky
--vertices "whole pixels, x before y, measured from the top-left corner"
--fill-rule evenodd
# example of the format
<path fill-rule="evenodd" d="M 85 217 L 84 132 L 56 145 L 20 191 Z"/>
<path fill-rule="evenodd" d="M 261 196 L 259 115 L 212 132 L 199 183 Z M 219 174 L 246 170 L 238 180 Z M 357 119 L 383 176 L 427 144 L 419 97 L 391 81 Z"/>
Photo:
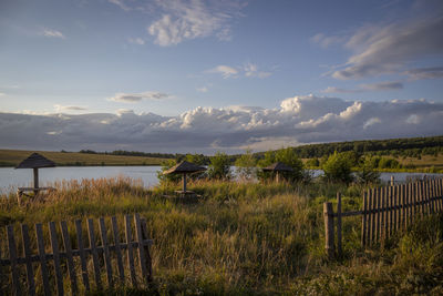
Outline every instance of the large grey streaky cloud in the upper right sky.
<path fill-rule="evenodd" d="M 442 31 L 441 13 L 437 17 L 360 28 L 344 44 L 353 54 L 344 69 L 333 71 L 332 76 L 348 80 L 399 74 L 413 62 L 442 57 Z M 317 37 L 316 40 L 321 42 L 324 39 Z"/>

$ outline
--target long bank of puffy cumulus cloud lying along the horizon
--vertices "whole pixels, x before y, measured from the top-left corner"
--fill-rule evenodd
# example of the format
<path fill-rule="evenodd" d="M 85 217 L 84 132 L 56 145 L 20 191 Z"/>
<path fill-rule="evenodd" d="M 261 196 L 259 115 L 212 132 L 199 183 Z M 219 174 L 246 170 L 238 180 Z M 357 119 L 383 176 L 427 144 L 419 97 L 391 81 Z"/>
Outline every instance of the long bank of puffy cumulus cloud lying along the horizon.
<path fill-rule="evenodd" d="M 425 100 L 344 101 L 316 95 L 282 100 L 274 109 L 196 108 L 177 116 L 136 114 L 30 115 L 0 113 L 3 147 L 212 153 L 272 143 L 303 143 L 441 134 L 443 103 Z"/>

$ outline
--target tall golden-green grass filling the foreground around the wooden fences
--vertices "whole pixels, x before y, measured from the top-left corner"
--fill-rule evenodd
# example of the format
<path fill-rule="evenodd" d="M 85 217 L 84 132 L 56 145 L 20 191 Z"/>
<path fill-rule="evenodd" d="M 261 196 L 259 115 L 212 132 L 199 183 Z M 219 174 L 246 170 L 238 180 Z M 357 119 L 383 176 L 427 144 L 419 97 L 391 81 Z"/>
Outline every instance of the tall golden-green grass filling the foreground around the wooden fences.
<path fill-rule="evenodd" d="M 343 211 L 358 210 L 362 190 L 358 185 L 189 182 L 189 190 L 203 196 L 193 204 L 162 197 L 179 184 L 145 190 L 130 178 L 103 178 L 55 186 L 58 192 L 24 206 L 12 194 L 1 196 L 0 237 L 8 224 L 111 215 L 117 215 L 122 228 L 124 214 L 141 213 L 155 242 L 155 278 L 148 290 L 119 287 L 96 295 L 443 293 L 442 216 L 414 224 L 384 248 L 369 249 L 359 244 L 360 220 L 347 218 L 344 254 L 337 261 L 327 258 L 322 203 L 334 201 L 340 191 Z M 6 249 L 1 239 L 2 256 Z M 0 290 L 9 290 L 8 280 L 0 280 Z"/>

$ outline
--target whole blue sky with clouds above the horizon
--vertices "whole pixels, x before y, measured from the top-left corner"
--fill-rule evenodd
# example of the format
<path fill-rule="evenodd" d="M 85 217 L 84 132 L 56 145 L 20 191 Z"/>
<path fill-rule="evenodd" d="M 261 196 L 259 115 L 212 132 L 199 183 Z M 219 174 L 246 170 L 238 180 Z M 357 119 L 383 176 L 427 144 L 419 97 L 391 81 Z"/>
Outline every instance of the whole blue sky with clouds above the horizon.
<path fill-rule="evenodd" d="M 1 0 L 0 149 L 443 134 L 442 1 Z"/>

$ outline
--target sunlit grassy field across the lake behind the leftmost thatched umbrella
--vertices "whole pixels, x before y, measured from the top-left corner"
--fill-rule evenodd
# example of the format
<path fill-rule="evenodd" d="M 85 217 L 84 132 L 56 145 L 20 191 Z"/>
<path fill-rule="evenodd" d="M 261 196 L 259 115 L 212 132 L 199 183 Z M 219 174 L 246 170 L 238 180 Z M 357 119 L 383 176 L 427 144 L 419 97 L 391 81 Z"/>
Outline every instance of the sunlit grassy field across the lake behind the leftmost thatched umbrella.
<path fill-rule="evenodd" d="M 0 166 L 16 166 L 22 160 L 38 152 L 49 160 L 63 166 L 81 165 L 159 165 L 164 159 L 143 156 L 121 156 L 104 154 L 86 154 L 75 152 L 0 150 Z"/>

